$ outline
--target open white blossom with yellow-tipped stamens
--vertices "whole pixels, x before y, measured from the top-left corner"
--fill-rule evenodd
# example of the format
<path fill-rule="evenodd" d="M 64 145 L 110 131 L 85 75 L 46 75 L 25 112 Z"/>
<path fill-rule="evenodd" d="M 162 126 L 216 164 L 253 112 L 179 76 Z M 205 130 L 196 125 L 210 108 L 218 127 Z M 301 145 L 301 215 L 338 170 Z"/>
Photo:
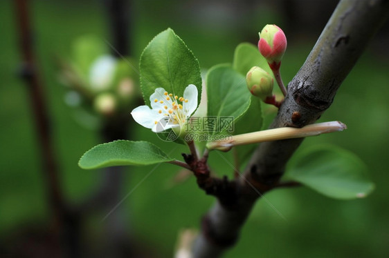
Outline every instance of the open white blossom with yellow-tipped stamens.
<path fill-rule="evenodd" d="M 197 88 L 193 84 L 186 87 L 183 97 L 173 95 L 164 88 L 156 88 L 150 96 L 152 108 L 138 106 L 131 115 L 137 123 L 153 132 L 179 126 L 182 128 L 197 108 L 197 95 Z"/>

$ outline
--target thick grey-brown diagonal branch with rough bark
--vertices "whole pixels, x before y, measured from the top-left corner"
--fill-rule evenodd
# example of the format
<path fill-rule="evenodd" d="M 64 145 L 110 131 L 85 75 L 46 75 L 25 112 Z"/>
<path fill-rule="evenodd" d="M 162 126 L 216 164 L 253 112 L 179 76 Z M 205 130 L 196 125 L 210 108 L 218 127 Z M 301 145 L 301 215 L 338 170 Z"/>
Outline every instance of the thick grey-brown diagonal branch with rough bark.
<path fill-rule="evenodd" d="M 329 108 L 336 90 L 372 36 L 388 17 L 389 1 L 342 0 L 307 61 L 289 83 L 288 94 L 271 128 L 314 123 Z M 194 257 L 219 257 L 235 244 L 255 201 L 277 186 L 284 168 L 303 139 L 261 143 L 242 177 L 233 201 L 218 201 L 203 219 Z"/>

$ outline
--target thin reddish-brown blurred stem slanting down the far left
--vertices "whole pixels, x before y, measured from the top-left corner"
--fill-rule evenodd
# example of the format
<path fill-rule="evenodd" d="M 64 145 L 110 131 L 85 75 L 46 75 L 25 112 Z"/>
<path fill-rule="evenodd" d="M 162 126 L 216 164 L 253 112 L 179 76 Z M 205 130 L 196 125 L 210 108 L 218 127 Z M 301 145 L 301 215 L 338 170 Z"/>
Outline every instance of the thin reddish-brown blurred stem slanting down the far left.
<path fill-rule="evenodd" d="M 28 2 L 28 0 L 15 0 L 14 2 L 22 59 L 21 78 L 26 82 L 26 88 L 30 97 L 30 105 L 33 111 L 37 139 L 41 152 L 42 172 L 46 181 L 46 193 L 48 195 L 49 206 L 51 206 L 53 212 L 54 229 L 58 233 L 63 222 L 64 199 L 58 179 L 58 164 L 53 147 L 50 119 L 44 97 L 44 87 L 42 85 L 42 79 L 39 77 L 39 69 L 34 54 L 34 37 L 30 14 L 28 12 Z"/>

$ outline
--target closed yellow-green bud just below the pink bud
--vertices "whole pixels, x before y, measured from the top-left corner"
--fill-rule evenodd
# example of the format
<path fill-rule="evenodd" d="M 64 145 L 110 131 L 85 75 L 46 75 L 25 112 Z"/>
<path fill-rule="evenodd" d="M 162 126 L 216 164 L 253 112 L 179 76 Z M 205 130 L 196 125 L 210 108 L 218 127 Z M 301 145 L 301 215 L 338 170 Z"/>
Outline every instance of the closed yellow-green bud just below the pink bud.
<path fill-rule="evenodd" d="M 273 96 L 273 77 L 260 67 L 254 66 L 246 75 L 247 88 L 263 101 Z"/>

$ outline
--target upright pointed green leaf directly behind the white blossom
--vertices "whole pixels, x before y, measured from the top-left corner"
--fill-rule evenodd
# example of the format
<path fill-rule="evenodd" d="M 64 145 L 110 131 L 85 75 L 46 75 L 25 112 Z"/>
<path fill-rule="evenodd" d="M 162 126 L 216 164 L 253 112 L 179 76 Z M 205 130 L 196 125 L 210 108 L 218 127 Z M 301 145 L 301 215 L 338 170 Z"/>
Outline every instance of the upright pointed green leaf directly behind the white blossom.
<path fill-rule="evenodd" d="M 189 84 L 194 84 L 201 98 L 199 62 L 186 44 L 172 29 L 165 30 L 143 50 L 140 62 L 141 89 L 145 103 L 150 106 L 150 95 L 156 88 L 164 88 L 173 95 L 183 96 Z"/>

